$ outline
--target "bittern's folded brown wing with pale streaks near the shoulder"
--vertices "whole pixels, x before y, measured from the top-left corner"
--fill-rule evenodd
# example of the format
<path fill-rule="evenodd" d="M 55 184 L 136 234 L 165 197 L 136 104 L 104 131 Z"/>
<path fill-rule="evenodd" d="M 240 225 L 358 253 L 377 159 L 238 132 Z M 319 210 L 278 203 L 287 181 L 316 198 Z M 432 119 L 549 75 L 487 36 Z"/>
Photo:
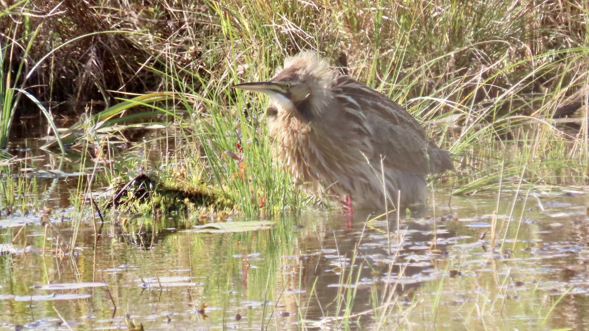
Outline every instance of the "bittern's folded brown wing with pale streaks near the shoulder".
<path fill-rule="evenodd" d="M 333 87 L 342 107 L 355 108 L 365 117 L 370 131 L 371 151 L 366 155 L 372 163 L 407 171 L 428 174 L 428 137 L 421 124 L 401 105 L 349 76 L 340 76 Z"/>

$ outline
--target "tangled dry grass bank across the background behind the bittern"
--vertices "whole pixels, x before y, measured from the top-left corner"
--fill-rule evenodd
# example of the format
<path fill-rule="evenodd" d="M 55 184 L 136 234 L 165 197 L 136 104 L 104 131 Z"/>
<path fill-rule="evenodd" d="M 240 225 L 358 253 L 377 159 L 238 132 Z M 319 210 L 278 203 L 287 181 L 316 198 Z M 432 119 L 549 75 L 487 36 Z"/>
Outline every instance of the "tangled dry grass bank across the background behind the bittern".
<path fill-rule="evenodd" d="M 231 62 L 242 71 L 253 65 L 244 62 L 249 58 L 274 68 L 306 48 L 319 48 L 401 102 L 429 96 L 485 108 L 509 95 L 501 111 L 535 114 L 530 101 L 554 93 L 552 108 L 561 116 L 586 95 L 588 61 L 578 54 L 588 35 L 583 1 L 42 0 L 21 2 L 0 25 L 5 41 L 21 45 L 39 27 L 26 59 L 29 68 L 39 65 L 25 87 L 41 101 L 67 101 L 62 111 L 90 101 L 111 104 L 113 91 L 170 90 L 178 83 L 206 89 L 229 78 Z M 161 74 L 171 71 L 177 81 Z"/>

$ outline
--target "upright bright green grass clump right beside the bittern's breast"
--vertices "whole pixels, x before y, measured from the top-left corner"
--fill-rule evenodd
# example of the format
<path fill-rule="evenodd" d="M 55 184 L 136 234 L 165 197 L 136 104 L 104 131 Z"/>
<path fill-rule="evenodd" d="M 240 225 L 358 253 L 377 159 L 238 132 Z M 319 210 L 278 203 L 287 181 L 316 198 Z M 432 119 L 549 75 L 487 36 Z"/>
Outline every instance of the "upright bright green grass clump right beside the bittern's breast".
<path fill-rule="evenodd" d="M 225 110 L 211 109 L 210 118 L 200 121 L 197 137 L 227 196 L 246 214 L 300 210 L 292 180 L 272 158 L 266 127 L 241 111 L 229 119 L 218 111 Z"/>

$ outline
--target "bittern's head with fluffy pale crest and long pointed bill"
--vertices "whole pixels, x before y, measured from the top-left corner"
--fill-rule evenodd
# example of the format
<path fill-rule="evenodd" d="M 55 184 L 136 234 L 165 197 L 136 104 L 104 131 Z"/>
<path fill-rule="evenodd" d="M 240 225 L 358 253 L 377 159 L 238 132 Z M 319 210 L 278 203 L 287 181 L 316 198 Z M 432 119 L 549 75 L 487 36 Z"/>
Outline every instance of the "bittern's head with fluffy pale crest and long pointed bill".
<path fill-rule="evenodd" d="M 329 86 L 336 75 L 315 52 L 302 52 L 286 59 L 284 68 L 278 69 L 271 80 L 233 88 L 267 94 L 279 106 L 279 112 L 296 112 L 310 122 L 325 110 L 330 98 Z"/>

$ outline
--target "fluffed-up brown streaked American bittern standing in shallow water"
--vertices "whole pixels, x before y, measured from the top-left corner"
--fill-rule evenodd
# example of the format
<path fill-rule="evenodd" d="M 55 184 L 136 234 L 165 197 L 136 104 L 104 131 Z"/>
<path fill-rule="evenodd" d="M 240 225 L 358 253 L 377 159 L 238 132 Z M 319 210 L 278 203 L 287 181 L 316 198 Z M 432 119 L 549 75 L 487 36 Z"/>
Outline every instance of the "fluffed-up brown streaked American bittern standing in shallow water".
<path fill-rule="evenodd" d="M 425 204 L 426 176 L 454 170 L 450 153 L 436 147 L 409 112 L 331 69 L 315 52 L 287 58 L 267 82 L 234 88 L 270 96 L 278 157 L 294 181 L 319 196 L 348 197 L 362 209 L 383 208 L 385 199 Z"/>

